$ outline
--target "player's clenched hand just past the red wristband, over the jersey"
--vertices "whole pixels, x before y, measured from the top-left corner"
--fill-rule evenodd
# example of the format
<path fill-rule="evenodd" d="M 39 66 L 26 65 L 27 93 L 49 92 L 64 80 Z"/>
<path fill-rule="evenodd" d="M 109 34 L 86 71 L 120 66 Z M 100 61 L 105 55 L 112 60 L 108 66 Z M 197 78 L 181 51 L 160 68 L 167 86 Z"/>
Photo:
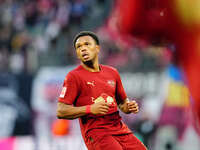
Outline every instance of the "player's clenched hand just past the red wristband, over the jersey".
<path fill-rule="evenodd" d="M 97 102 L 91 105 L 91 113 L 94 115 L 106 114 L 108 112 L 109 105 L 105 101 Z"/>

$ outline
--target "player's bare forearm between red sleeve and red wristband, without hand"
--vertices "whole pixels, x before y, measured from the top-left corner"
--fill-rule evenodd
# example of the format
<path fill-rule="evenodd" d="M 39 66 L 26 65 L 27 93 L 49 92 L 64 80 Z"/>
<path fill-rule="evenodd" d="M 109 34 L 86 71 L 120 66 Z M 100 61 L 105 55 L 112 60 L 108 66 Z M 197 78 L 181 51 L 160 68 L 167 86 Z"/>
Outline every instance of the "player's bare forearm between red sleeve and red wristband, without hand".
<path fill-rule="evenodd" d="M 76 119 L 86 115 L 86 106 L 74 107 L 58 103 L 57 117 L 59 119 Z"/>

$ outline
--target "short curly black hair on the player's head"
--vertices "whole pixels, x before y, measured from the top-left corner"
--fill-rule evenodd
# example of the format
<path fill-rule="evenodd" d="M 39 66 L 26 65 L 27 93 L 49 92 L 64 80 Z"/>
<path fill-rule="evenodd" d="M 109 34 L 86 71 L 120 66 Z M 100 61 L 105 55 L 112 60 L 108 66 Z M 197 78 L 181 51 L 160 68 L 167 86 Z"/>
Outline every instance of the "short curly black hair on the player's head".
<path fill-rule="evenodd" d="M 79 32 L 75 36 L 75 38 L 73 40 L 73 44 L 74 44 L 74 48 L 75 49 L 76 49 L 76 47 L 75 47 L 76 41 L 81 36 L 91 36 L 95 40 L 96 44 L 99 45 L 99 38 L 97 37 L 97 35 L 94 32 L 91 32 L 91 31 L 81 31 L 81 32 Z"/>

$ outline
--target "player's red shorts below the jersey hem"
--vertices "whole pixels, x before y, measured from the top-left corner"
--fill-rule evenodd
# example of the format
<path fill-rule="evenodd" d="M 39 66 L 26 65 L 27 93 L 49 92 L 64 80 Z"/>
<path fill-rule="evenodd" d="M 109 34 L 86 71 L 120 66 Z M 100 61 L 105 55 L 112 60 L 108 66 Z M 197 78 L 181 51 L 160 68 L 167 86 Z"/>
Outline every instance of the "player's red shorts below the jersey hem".
<path fill-rule="evenodd" d="M 88 150 L 147 150 L 133 134 L 94 134 L 88 139 Z"/>

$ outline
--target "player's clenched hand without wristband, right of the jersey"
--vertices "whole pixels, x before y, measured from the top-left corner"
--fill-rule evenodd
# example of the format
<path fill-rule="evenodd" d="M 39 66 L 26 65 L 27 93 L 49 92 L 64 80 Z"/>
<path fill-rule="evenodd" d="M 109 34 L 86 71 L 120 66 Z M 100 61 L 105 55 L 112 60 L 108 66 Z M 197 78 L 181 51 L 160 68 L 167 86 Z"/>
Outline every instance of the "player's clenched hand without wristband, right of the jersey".
<path fill-rule="evenodd" d="M 128 98 L 126 98 L 122 103 L 118 105 L 119 109 L 126 113 L 138 113 L 139 107 L 136 101 L 130 101 Z"/>

